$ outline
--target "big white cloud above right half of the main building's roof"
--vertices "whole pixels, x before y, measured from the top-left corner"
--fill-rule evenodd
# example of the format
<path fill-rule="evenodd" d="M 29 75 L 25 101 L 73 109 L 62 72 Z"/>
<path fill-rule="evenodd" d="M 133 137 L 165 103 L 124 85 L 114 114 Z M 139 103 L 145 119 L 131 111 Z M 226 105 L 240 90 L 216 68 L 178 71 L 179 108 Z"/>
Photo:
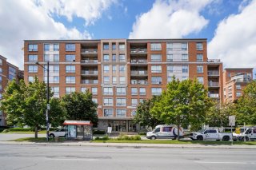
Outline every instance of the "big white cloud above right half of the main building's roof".
<path fill-rule="evenodd" d="M 200 11 L 212 0 L 157 0 L 137 17 L 130 38 L 182 38 L 198 33 L 208 24 Z"/>

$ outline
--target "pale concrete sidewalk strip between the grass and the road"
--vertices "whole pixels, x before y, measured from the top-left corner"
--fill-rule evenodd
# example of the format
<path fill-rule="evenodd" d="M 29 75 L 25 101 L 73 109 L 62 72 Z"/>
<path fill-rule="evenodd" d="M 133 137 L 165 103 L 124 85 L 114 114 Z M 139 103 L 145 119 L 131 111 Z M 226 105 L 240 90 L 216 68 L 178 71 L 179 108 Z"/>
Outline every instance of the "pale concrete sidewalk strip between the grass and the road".
<path fill-rule="evenodd" d="M 64 142 L 17 142 L 0 141 L 0 144 L 41 145 L 41 146 L 84 146 L 84 147 L 118 147 L 118 148 L 224 148 L 224 149 L 256 149 L 256 145 L 225 144 L 135 144 L 135 143 L 92 143 L 90 141 Z"/>

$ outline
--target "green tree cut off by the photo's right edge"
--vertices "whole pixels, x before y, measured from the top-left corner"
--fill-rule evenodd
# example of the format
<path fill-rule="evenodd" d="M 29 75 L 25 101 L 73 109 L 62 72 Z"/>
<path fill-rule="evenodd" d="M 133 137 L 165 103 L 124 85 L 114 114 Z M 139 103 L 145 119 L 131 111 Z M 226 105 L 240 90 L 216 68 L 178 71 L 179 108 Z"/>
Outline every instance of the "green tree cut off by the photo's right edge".
<path fill-rule="evenodd" d="M 236 116 L 238 125 L 256 125 L 256 81 L 247 85 L 238 99 Z"/>

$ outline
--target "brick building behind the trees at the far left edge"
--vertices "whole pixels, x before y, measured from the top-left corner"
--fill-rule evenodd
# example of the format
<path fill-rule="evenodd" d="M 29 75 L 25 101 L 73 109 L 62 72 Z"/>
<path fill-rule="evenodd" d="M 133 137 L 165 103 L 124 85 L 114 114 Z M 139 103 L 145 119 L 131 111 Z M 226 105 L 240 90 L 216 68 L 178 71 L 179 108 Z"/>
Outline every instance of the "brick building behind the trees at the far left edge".
<path fill-rule="evenodd" d="M 0 100 L 8 81 L 22 79 L 22 75 L 23 72 L 18 67 L 10 64 L 6 61 L 6 57 L 0 55 Z M 0 110 L 0 126 L 6 126 L 6 114 L 2 110 Z"/>

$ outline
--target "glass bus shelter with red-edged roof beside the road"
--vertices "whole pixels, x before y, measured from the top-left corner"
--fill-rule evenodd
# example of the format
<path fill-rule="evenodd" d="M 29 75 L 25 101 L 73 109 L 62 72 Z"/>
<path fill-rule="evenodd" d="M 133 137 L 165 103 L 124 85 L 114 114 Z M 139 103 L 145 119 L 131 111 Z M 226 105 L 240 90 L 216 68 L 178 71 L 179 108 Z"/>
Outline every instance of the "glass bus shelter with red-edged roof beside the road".
<path fill-rule="evenodd" d="M 66 140 L 93 140 L 91 121 L 64 121 Z"/>

